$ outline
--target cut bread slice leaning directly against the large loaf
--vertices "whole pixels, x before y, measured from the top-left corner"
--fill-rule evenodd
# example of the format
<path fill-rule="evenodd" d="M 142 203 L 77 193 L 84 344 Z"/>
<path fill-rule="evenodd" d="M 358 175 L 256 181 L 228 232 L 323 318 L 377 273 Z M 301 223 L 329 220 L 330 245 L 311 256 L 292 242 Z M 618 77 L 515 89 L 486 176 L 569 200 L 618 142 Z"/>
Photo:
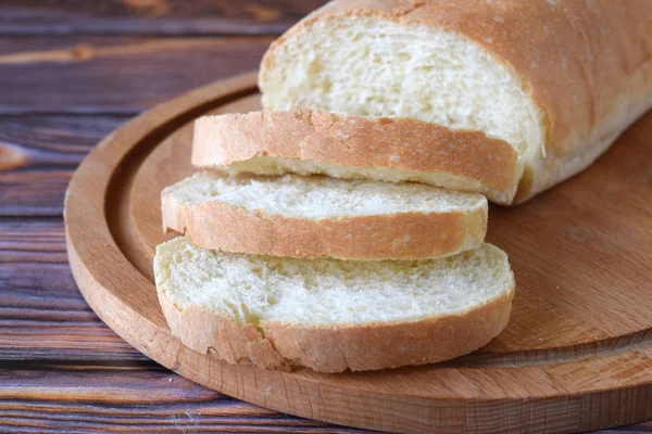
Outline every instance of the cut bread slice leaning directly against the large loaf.
<path fill-rule="evenodd" d="M 195 123 L 192 164 L 264 175 L 418 181 L 509 203 L 523 175 L 518 153 L 484 132 L 409 118 L 323 111 L 204 116 Z"/>

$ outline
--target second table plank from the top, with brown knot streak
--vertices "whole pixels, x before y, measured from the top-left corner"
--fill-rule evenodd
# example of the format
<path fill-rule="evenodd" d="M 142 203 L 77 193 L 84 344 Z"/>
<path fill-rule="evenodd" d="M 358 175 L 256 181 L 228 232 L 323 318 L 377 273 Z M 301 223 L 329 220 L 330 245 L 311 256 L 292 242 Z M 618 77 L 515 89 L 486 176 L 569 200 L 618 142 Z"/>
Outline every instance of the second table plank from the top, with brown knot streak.
<path fill-rule="evenodd" d="M 0 115 L 134 115 L 255 69 L 272 41 L 238 38 L 0 38 Z"/>

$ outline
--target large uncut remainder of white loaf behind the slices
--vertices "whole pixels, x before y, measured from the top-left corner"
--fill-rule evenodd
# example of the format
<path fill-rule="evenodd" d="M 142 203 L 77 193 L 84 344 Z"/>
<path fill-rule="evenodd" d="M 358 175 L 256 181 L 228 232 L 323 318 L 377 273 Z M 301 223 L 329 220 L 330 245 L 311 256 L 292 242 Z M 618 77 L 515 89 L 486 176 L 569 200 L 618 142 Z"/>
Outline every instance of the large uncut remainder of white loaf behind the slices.
<path fill-rule="evenodd" d="M 485 193 L 523 202 L 652 106 L 651 28 L 649 0 L 335 0 L 272 44 L 259 87 L 268 111 L 410 117 L 503 140 L 525 171 L 516 196 Z"/>

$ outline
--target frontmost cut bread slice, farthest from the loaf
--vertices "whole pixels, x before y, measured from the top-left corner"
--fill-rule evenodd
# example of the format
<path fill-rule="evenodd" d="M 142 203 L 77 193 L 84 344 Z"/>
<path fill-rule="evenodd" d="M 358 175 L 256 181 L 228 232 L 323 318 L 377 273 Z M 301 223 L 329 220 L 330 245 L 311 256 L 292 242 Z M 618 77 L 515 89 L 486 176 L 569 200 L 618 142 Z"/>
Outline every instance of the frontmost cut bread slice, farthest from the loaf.
<path fill-rule="evenodd" d="M 507 324 L 506 255 L 478 250 L 423 261 L 294 259 L 156 247 L 159 299 L 181 342 L 229 363 L 341 372 L 471 353 Z"/>

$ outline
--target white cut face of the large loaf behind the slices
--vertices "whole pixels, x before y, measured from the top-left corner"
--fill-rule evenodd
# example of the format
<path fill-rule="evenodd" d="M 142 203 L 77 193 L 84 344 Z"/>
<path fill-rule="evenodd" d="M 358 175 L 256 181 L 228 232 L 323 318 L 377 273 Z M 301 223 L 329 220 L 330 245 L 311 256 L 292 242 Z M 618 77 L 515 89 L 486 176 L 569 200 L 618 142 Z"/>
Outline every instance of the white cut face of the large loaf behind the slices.
<path fill-rule="evenodd" d="M 260 81 L 268 111 L 411 117 L 485 131 L 526 159 L 541 151 L 543 114 L 527 88 L 459 35 L 371 16 L 327 17 L 276 46 L 272 64 Z"/>

